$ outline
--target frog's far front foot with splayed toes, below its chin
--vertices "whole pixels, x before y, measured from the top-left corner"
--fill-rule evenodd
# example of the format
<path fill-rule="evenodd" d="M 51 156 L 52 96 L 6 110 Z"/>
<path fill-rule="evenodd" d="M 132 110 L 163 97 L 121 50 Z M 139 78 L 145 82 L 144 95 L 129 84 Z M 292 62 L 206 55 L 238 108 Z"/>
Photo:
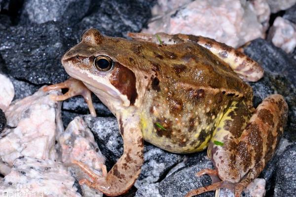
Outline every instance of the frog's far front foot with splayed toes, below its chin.
<path fill-rule="evenodd" d="M 91 91 L 88 90 L 86 88 L 86 86 L 79 80 L 74 79 L 74 78 L 69 78 L 68 80 L 62 82 L 62 83 L 58 83 L 58 84 L 54 84 L 51 86 L 46 86 L 43 88 L 43 91 L 50 91 L 50 90 L 59 90 L 59 89 L 64 89 L 67 88 L 69 89 L 68 92 L 64 95 L 52 95 L 51 99 L 56 100 L 56 101 L 62 101 L 62 100 L 66 100 L 69 99 L 71 97 L 75 97 L 78 95 L 81 95 L 89 108 L 90 114 L 94 117 L 97 116 L 94 105 L 92 103 L 92 99 L 91 99 Z"/>

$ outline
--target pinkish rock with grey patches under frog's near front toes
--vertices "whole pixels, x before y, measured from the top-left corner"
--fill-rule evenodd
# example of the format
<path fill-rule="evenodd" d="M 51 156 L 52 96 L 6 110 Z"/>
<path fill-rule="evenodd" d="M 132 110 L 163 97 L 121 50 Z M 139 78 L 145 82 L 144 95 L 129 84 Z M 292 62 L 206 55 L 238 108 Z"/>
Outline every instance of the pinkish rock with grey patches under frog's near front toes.
<path fill-rule="evenodd" d="M 75 117 L 69 123 L 67 129 L 58 136 L 58 142 L 61 146 L 63 163 L 71 165 L 73 160 L 77 160 L 87 164 L 99 175 L 102 174 L 100 171 L 105 158 L 95 142 L 94 135 L 81 117 Z M 75 174 L 81 174 L 79 168 L 72 170 Z M 86 185 L 81 187 L 85 196 L 103 196 L 101 192 L 90 189 Z"/>

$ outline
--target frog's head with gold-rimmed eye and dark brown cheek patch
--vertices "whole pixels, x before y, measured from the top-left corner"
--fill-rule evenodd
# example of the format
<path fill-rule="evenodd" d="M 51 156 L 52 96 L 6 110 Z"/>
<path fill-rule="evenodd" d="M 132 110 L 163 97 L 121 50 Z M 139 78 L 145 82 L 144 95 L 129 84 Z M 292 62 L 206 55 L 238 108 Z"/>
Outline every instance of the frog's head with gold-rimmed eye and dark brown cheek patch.
<path fill-rule="evenodd" d="M 90 29 L 62 58 L 67 73 L 82 81 L 113 113 L 134 105 L 138 97 L 136 75 L 127 67 L 125 42 Z"/>

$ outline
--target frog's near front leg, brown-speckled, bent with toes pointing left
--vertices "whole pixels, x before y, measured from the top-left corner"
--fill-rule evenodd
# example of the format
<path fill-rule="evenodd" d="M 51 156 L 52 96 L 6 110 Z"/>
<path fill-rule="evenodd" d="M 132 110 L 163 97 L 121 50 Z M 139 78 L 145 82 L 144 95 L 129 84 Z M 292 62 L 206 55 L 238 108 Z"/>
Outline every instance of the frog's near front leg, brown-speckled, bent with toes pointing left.
<path fill-rule="evenodd" d="M 82 163 L 74 162 L 92 180 L 82 179 L 79 181 L 80 184 L 86 184 L 111 197 L 124 194 L 133 186 L 144 162 L 144 141 L 139 117 L 135 114 L 121 116 L 118 125 L 123 138 L 124 152 L 106 176 L 98 176 Z"/>

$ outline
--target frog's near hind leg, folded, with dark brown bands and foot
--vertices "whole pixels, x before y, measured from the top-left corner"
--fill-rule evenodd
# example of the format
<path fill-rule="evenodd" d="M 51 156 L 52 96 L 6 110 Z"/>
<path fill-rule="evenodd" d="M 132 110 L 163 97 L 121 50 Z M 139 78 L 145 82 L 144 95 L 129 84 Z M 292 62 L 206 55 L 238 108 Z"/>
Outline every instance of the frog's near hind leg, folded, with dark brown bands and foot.
<path fill-rule="evenodd" d="M 286 101 L 281 95 L 267 97 L 249 121 L 248 113 L 244 112 L 247 110 L 241 108 L 242 105 L 243 103 L 234 102 L 225 113 L 208 148 L 208 156 L 215 164 L 222 181 L 192 190 L 185 197 L 219 188 L 227 188 L 234 192 L 235 197 L 240 197 L 242 191 L 259 176 L 273 156 L 287 121 Z M 242 130 L 244 125 L 246 128 Z M 208 172 L 215 176 L 209 170 L 202 170 L 198 175 Z"/>

